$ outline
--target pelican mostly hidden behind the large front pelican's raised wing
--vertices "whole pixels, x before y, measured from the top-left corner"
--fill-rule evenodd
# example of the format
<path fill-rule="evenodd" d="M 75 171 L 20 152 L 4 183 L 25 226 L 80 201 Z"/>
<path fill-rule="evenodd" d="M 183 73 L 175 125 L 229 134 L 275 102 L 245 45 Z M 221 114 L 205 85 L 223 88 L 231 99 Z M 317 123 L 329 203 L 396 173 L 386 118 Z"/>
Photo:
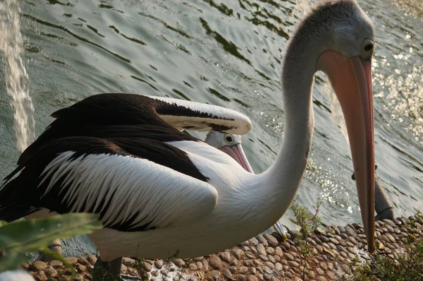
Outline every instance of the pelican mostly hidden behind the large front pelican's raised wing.
<path fill-rule="evenodd" d="M 218 148 L 227 155 L 231 156 L 236 162 L 238 162 L 239 165 L 241 165 L 241 167 L 246 169 L 248 172 L 254 173 L 252 167 L 250 166 L 250 162 L 248 162 L 247 157 L 245 157 L 241 138 L 241 136 L 231 133 L 211 131 L 207 133 L 206 139 L 204 141 L 209 145 L 212 145 L 214 148 Z M 281 222 L 276 221 L 273 227 L 274 230 L 279 235 L 281 235 L 284 241 L 288 239 L 286 237 L 285 230 L 281 225 Z"/>

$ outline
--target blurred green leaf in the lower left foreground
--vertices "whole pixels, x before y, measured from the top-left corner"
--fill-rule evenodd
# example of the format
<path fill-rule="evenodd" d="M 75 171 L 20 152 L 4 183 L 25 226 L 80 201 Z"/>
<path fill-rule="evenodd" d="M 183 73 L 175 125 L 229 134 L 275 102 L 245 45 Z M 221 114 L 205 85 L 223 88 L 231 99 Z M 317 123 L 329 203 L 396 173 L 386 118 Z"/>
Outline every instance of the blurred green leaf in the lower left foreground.
<path fill-rule="evenodd" d="M 23 260 L 18 253 L 47 249 L 56 238 L 90 234 L 102 228 L 98 215 L 70 213 L 35 220 L 11 222 L 0 227 L 0 272 L 16 269 Z"/>

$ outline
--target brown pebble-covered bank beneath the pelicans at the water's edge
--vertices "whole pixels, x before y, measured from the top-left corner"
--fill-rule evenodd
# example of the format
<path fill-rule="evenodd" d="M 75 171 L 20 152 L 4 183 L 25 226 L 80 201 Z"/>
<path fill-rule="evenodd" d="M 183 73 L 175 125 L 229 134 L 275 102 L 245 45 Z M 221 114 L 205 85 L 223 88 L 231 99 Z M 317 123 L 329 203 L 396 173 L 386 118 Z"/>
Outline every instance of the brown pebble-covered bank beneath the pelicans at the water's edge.
<path fill-rule="evenodd" d="M 410 222 L 414 221 L 411 225 Z M 391 259 L 405 253 L 407 237 L 423 239 L 423 215 L 393 220 L 379 220 L 376 227 L 376 252 Z M 317 229 L 307 238 L 314 254 L 303 258 L 301 248 L 294 239 L 298 231 L 289 231 L 288 239 L 276 232 L 263 234 L 244 241 L 231 249 L 209 256 L 170 261 L 143 259 L 138 263 L 133 258 L 123 258 L 122 273 L 140 276 L 145 269 L 149 280 L 339 280 L 354 272 L 354 263 L 373 263 L 375 256 L 365 251 L 367 241 L 361 223 Z M 75 280 L 92 280 L 88 270 L 97 261 L 94 255 L 69 257 L 77 270 Z M 422 265 L 423 266 L 423 265 Z M 61 261 L 23 263 L 36 280 L 48 278 L 57 281 L 70 280 L 71 270 Z M 303 275 L 305 275 L 303 279 Z M 54 279 L 53 279 L 54 278 Z M 422 276 L 423 280 L 423 276 Z"/>

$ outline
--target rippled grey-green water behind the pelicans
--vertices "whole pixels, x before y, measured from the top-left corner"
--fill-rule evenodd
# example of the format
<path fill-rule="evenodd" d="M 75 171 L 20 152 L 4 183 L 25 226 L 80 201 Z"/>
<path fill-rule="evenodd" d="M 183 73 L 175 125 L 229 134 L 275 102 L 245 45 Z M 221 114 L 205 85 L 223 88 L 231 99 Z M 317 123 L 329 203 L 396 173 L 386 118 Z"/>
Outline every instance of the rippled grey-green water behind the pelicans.
<path fill-rule="evenodd" d="M 306 3 L 307 1 L 300 1 Z M 422 210 L 423 9 L 419 1 L 359 1 L 376 27 L 374 106 L 377 174 L 396 215 Z M 283 134 L 281 51 L 301 16 L 295 1 L 20 1 L 35 131 L 49 114 L 99 92 L 139 92 L 243 112 L 255 172 L 269 167 Z M 19 151 L 11 98 L 0 73 L 0 176 Z M 317 73 L 312 155 L 299 202 L 318 196 L 323 222 L 360 221 L 350 148 L 339 106 Z M 282 219 L 288 220 L 290 212 Z"/>

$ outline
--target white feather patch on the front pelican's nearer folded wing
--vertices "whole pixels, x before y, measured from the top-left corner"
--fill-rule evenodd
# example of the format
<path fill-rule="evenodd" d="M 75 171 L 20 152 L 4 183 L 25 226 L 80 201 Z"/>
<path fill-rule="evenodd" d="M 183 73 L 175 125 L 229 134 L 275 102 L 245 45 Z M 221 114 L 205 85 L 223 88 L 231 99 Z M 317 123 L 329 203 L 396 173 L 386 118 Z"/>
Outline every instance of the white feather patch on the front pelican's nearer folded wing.
<path fill-rule="evenodd" d="M 134 216 L 131 227 L 185 224 L 208 215 L 216 205 L 213 186 L 152 161 L 110 154 L 75 159 L 73 155 L 67 151 L 51 161 L 39 187 L 51 176 L 44 196 L 61 184 L 63 203 L 75 213 L 93 206 L 105 210 L 101 204 L 109 201 L 102 218 L 105 225 Z"/>

